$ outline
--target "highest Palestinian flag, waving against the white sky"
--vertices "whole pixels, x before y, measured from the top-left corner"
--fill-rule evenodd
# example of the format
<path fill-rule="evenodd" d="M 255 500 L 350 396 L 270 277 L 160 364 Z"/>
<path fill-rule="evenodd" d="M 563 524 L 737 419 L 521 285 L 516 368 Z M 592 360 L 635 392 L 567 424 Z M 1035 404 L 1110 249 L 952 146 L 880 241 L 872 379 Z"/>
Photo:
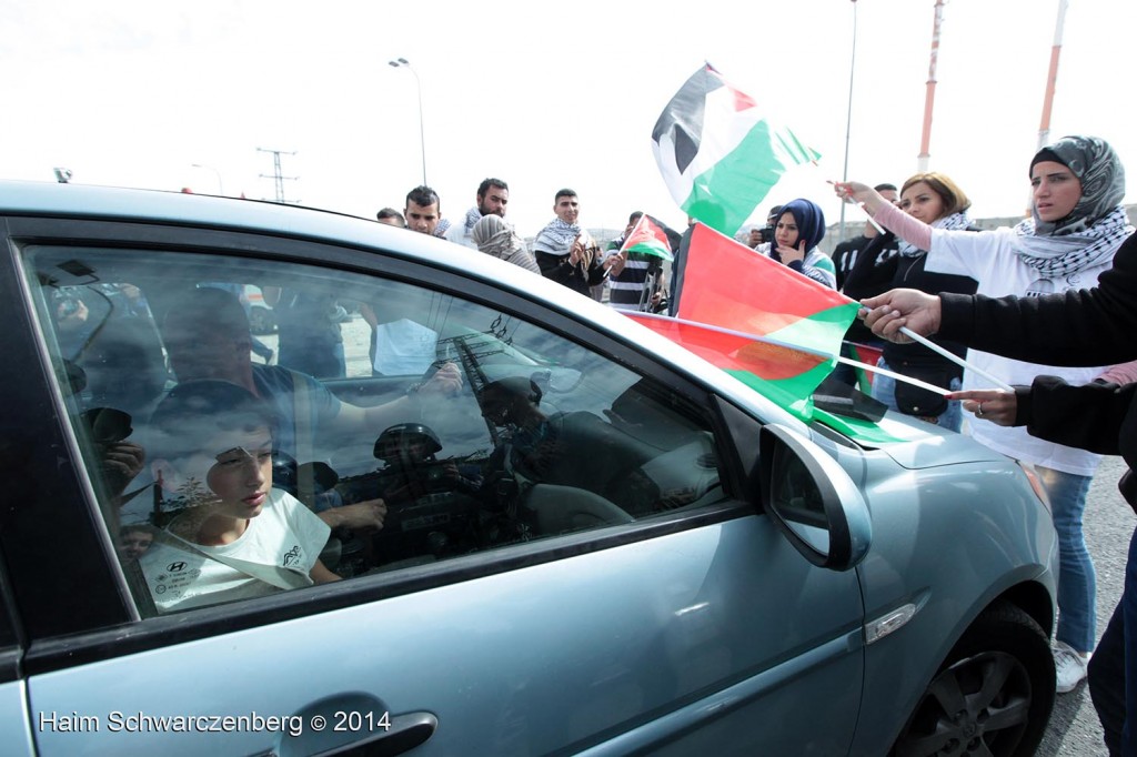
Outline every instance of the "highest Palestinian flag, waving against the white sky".
<path fill-rule="evenodd" d="M 762 118 L 754 100 L 711 64 L 663 109 L 652 140 L 675 202 L 728 235 L 742 227 L 787 168 L 821 157 L 789 130 Z"/>

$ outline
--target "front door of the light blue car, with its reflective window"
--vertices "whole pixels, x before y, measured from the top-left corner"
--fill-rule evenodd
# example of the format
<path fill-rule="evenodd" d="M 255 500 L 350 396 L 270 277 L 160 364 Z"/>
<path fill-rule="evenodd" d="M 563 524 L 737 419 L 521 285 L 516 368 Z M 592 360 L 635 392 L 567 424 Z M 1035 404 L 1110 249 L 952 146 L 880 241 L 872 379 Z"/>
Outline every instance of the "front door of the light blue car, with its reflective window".
<path fill-rule="evenodd" d="M 555 297 L 382 249 L 156 224 L 8 228 L 2 285 L 23 330 L 8 339 L 34 357 L 18 391 L 3 381 L 53 411 L 35 436 L 51 459 L 6 465 L 25 496 L 0 535 L 38 754 L 847 749 L 863 674 L 855 572 L 811 565 L 757 510 L 740 463 L 753 449 L 739 448 L 760 424 L 737 408 L 728 423 L 696 377 Z M 122 475 L 108 450 L 150 443 L 148 413 L 185 383 L 164 322 L 217 282 L 308 292 L 349 314 L 363 303 L 431 343 L 421 375 L 377 375 L 371 352 L 384 346 L 356 315 L 338 324 L 342 377 L 288 374 L 307 391 L 281 406 L 294 439 L 277 483 L 294 475 L 290 494 L 314 511 L 391 500 L 383 530 L 333 530 L 326 559 L 343 580 L 180 609 L 156 593 L 190 593 L 177 564 L 156 583 L 115 542 L 131 525 L 166 539 L 185 513 L 151 468 Z M 135 290 L 142 301 L 127 301 Z M 426 393 L 447 364 L 462 390 Z M 538 431 L 488 406 L 514 380 L 530 386 L 516 402 Z M 350 415 L 340 397 L 398 408 L 440 450 L 397 469 L 391 458 L 410 452 L 376 458 L 385 429 L 335 425 Z M 127 435 L 100 435 L 92 407 L 125 409 Z M 27 414 L 6 423 L 28 435 L 11 425 Z M 395 493 L 400 475 L 414 496 Z"/>

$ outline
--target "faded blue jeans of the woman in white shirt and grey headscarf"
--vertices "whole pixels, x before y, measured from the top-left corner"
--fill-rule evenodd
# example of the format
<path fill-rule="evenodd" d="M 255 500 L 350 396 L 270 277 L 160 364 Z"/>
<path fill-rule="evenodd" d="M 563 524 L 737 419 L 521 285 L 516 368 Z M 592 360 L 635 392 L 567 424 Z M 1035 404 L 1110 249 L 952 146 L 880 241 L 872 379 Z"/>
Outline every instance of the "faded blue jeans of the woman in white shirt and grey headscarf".
<path fill-rule="evenodd" d="M 1097 638 L 1094 597 L 1097 577 L 1081 533 L 1090 476 L 1035 466 L 1051 498 L 1051 517 L 1059 534 L 1059 631 L 1055 638 L 1078 651 L 1094 650 Z"/>

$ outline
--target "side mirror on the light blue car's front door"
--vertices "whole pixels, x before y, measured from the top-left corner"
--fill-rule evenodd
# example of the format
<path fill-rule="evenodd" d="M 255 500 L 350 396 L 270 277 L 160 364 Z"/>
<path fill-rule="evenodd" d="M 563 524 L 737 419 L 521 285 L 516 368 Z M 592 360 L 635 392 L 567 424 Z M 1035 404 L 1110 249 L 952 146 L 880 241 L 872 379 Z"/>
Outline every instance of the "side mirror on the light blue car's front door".
<path fill-rule="evenodd" d="M 762 508 L 807 560 L 855 567 L 872 543 L 872 518 L 856 484 L 816 443 L 786 426 L 758 435 Z"/>

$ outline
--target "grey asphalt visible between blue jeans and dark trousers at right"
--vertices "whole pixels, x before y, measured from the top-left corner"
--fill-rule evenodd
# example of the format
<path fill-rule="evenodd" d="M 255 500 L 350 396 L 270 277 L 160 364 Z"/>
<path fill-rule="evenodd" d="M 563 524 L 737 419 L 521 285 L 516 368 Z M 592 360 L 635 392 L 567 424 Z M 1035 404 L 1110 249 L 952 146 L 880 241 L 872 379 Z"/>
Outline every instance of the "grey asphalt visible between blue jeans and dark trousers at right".
<path fill-rule="evenodd" d="M 1126 551 L 1137 523 L 1134 511 L 1118 493 L 1118 479 L 1124 469 L 1121 458 L 1106 458 L 1094 476 L 1086 505 L 1086 543 L 1097 569 L 1098 635 L 1121 597 Z M 1046 757 L 1105 757 L 1109 754 L 1085 683 L 1068 694 L 1059 694 L 1046 738 L 1037 754 Z"/>

